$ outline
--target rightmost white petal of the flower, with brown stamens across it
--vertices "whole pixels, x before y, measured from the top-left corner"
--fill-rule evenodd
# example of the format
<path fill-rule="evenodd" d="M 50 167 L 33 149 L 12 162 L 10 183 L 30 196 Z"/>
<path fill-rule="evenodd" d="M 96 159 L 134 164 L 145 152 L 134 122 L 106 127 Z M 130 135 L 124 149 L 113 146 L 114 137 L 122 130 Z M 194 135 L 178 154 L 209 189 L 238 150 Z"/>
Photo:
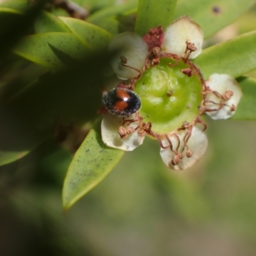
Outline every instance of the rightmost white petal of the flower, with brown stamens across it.
<path fill-rule="evenodd" d="M 230 118 L 230 116 L 234 115 L 236 111 L 231 111 L 230 106 L 234 105 L 235 108 L 237 108 L 237 105 L 242 96 L 242 90 L 236 79 L 227 74 L 212 74 L 206 81 L 206 85 L 209 86 L 211 90 L 214 90 L 221 95 L 223 95 L 223 93 L 227 91 L 232 91 L 233 96 L 229 100 L 225 101 L 225 104 L 228 106 L 225 105 L 218 111 L 207 111 L 205 113 L 211 116 L 212 119 L 227 119 Z M 212 100 L 216 103 L 223 102 L 223 100 L 216 97 L 214 93 L 210 93 L 209 95 L 207 95 L 206 99 Z M 205 107 L 208 109 L 216 109 L 218 108 L 218 106 L 219 105 L 212 104 L 211 102 L 205 104 Z"/>

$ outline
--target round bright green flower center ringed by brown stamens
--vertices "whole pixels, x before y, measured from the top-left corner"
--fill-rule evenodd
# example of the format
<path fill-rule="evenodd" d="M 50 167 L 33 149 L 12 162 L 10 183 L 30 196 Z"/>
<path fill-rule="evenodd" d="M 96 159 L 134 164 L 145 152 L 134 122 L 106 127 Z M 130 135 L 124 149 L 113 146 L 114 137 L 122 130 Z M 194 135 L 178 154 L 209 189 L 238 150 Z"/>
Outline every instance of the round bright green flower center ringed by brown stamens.
<path fill-rule="evenodd" d="M 159 134 L 177 129 L 182 122 L 193 121 L 202 101 L 199 76 L 185 75 L 182 68 L 189 65 L 183 61 L 175 67 L 168 63 L 170 59 L 162 58 L 156 67 L 148 68 L 134 88 L 141 99 L 144 122 L 151 122 L 152 131 Z"/>

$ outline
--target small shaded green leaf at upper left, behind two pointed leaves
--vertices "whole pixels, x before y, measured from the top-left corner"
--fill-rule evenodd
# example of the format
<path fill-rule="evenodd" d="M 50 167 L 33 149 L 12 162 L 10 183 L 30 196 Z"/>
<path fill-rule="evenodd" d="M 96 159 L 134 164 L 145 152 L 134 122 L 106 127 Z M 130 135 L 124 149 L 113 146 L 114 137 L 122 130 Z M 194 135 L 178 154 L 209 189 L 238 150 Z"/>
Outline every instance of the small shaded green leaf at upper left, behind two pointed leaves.
<path fill-rule="evenodd" d="M 49 12 L 40 13 L 35 21 L 35 31 L 36 33 L 70 32 L 58 17 Z"/>

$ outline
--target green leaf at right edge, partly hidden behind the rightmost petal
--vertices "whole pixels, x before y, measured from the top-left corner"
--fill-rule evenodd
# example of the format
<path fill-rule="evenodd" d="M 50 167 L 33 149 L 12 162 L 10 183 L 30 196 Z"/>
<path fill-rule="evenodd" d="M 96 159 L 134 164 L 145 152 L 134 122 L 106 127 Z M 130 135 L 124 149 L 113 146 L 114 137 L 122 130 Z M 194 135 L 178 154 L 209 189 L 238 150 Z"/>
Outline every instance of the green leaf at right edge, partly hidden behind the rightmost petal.
<path fill-rule="evenodd" d="M 238 77 L 238 83 L 243 90 L 243 96 L 232 119 L 256 120 L 256 79 L 250 77 Z"/>

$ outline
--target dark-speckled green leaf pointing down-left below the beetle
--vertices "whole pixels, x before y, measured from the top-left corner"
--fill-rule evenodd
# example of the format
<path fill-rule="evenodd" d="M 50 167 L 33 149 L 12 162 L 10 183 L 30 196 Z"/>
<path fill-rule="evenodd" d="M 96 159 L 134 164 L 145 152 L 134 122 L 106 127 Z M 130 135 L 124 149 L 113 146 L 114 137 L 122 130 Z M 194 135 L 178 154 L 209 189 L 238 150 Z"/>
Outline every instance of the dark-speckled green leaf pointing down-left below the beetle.
<path fill-rule="evenodd" d="M 104 179 L 124 154 L 122 150 L 104 145 L 100 122 L 101 118 L 86 136 L 68 168 L 62 195 L 64 211 Z"/>

